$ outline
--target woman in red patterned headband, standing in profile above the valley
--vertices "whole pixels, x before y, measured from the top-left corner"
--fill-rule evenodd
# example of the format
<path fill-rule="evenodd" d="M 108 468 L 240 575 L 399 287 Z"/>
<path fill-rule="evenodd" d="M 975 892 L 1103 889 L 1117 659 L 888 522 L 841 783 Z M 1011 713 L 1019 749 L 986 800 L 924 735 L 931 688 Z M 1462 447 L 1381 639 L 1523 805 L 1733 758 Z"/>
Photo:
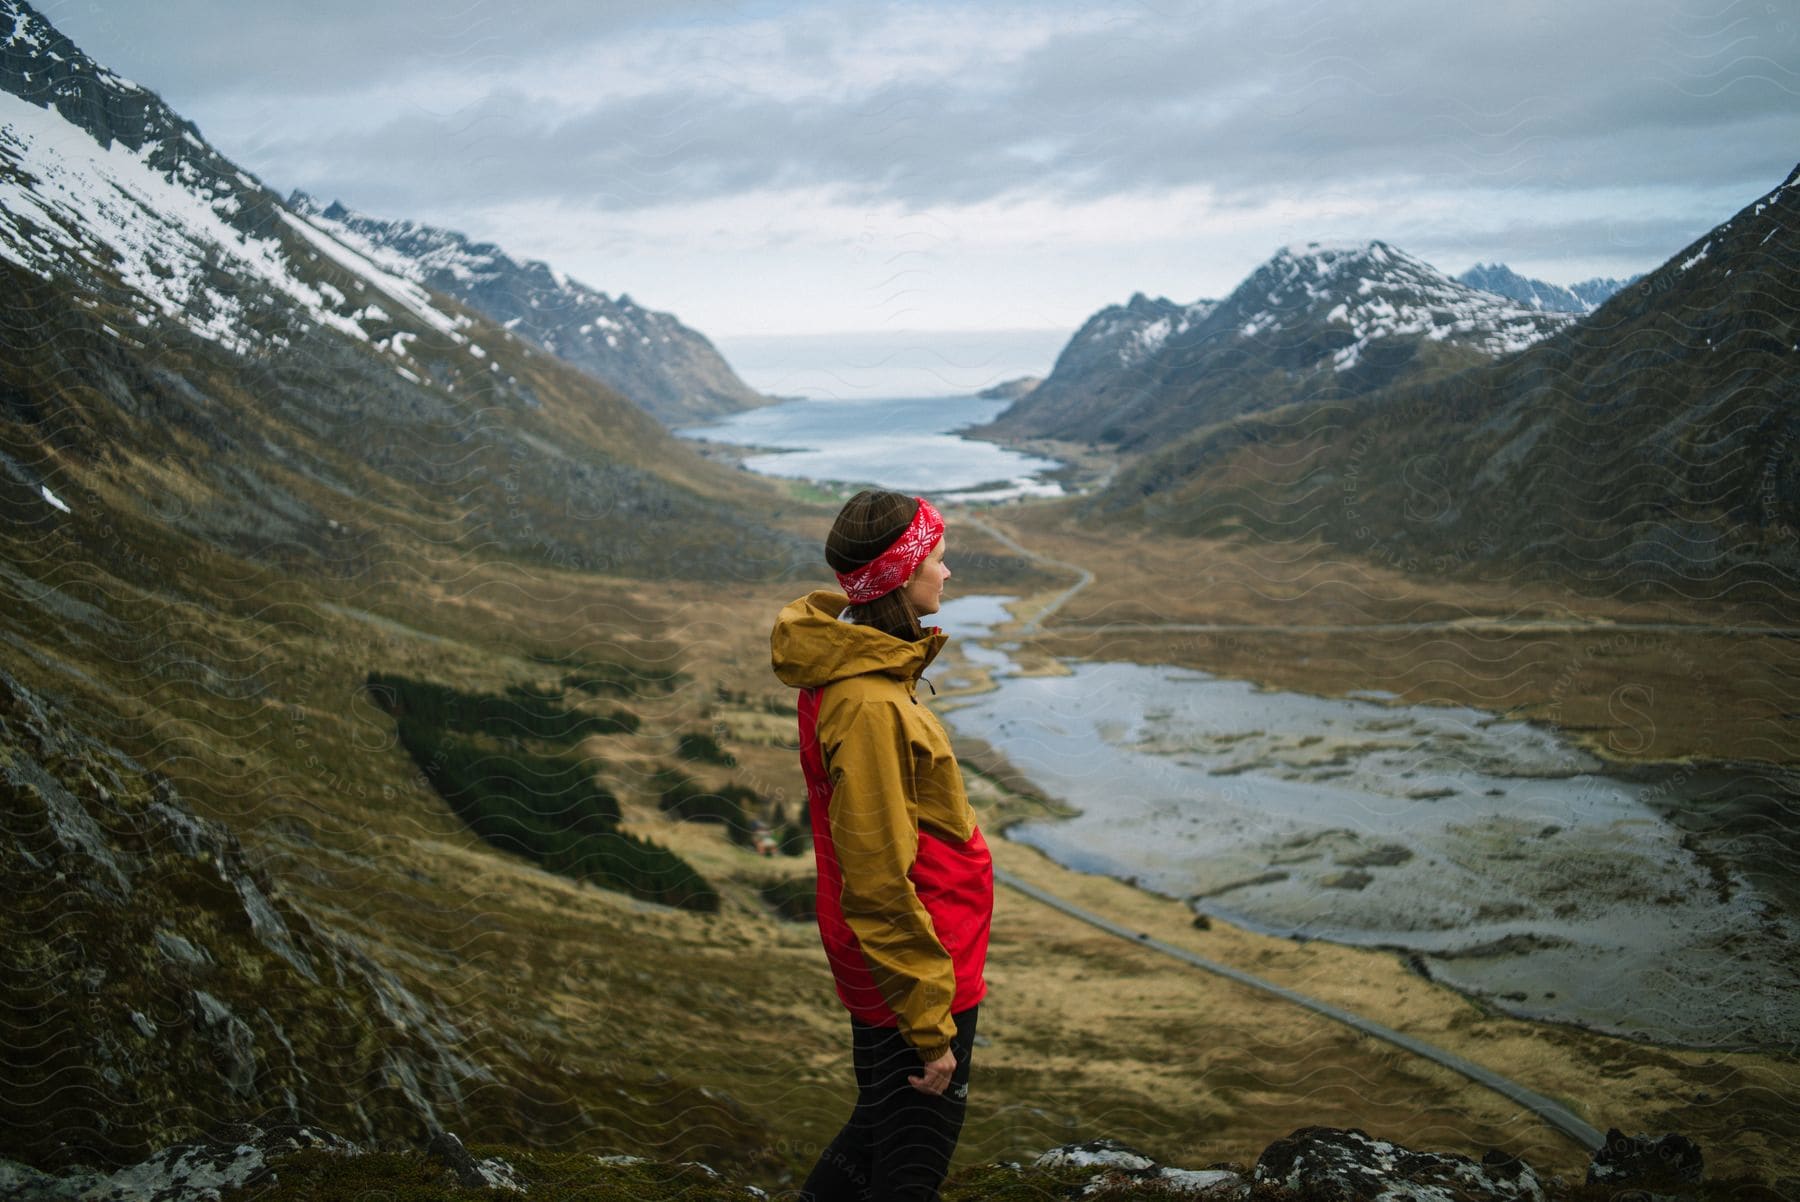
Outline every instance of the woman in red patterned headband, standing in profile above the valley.
<path fill-rule="evenodd" d="M 819 864 L 819 936 L 850 1009 L 857 1105 L 801 1198 L 936 1198 L 968 1098 L 994 866 L 950 740 L 920 704 L 945 635 L 943 518 L 920 497 L 851 497 L 824 542 L 842 594 L 776 619 L 801 689 L 799 758 Z M 844 621 L 848 619 L 848 621 Z"/>

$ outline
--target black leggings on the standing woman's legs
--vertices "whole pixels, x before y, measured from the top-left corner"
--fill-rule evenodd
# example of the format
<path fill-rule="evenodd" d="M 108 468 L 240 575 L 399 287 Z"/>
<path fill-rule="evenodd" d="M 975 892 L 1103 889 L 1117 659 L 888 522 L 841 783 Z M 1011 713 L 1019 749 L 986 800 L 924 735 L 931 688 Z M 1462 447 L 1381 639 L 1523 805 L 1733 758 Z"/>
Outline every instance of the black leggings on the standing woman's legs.
<path fill-rule="evenodd" d="M 956 1072 L 949 1089 L 936 1096 L 907 1083 L 925 1065 L 896 1027 L 850 1020 L 857 1108 L 819 1153 L 799 1202 L 938 1202 L 938 1186 L 950 1171 L 950 1153 L 968 1108 L 977 1009 L 970 1006 L 952 1015 Z"/>

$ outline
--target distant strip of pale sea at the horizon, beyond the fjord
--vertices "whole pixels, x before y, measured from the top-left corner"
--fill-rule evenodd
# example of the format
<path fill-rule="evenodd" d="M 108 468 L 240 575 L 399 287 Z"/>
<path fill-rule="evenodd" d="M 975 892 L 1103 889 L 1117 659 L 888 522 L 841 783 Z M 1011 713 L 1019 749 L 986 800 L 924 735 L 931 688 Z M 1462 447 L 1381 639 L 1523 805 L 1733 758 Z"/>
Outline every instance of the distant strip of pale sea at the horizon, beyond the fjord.
<path fill-rule="evenodd" d="M 1073 329 L 878 329 L 713 336 L 738 376 L 808 399 L 974 396 L 1048 376 Z"/>

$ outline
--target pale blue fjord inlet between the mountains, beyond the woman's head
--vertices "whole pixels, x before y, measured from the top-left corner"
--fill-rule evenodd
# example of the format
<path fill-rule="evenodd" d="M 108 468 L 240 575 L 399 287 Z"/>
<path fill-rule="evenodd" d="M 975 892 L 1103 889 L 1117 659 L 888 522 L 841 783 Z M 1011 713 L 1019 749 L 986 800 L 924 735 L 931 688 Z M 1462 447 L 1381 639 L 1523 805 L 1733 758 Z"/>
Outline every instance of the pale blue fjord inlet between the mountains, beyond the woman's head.
<path fill-rule="evenodd" d="M 754 446 L 760 453 L 743 466 L 763 475 L 880 484 L 943 502 L 1062 493 L 1040 479 L 1057 461 L 956 434 L 992 421 L 1006 405 L 976 396 L 794 399 L 679 434 Z"/>

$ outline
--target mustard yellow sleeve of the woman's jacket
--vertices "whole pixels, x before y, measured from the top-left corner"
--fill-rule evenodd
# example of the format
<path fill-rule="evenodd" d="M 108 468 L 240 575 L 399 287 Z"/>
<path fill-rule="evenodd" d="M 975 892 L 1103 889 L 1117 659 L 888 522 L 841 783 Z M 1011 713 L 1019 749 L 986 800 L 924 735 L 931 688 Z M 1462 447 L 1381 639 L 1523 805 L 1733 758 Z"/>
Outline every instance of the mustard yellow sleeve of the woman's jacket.
<path fill-rule="evenodd" d="M 909 873 L 918 858 L 913 749 L 893 704 L 844 700 L 821 714 L 832 777 L 832 846 L 844 875 L 844 921 L 900 1033 L 932 1062 L 950 1045 L 956 968 Z"/>

